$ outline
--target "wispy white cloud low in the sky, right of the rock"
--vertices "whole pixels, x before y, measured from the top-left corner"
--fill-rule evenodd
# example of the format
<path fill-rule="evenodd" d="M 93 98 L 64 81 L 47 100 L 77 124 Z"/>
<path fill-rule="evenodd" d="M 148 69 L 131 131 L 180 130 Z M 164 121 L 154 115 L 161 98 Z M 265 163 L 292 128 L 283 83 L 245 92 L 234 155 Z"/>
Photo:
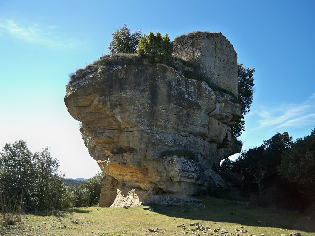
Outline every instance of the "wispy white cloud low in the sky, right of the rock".
<path fill-rule="evenodd" d="M 315 93 L 302 103 L 275 104 L 274 107 L 260 107 L 253 111 L 259 129 L 277 130 L 280 127 L 305 127 L 315 125 Z"/>

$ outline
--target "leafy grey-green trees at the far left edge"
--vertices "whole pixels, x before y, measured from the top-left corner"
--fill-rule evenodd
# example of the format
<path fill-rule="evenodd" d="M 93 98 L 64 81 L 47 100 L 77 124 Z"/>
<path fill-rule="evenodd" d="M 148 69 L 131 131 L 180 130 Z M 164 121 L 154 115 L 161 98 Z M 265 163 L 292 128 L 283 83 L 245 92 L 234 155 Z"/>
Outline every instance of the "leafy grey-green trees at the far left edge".
<path fill-rule="evenodd" d="M 11 205 L 22 199 L 28 210 L 61 205 L 65 189 L 58 167 L 48 148 L 32 154 L 24 140 L 6 143 L 0 153 L 0 198 L 10 199 Z"/>

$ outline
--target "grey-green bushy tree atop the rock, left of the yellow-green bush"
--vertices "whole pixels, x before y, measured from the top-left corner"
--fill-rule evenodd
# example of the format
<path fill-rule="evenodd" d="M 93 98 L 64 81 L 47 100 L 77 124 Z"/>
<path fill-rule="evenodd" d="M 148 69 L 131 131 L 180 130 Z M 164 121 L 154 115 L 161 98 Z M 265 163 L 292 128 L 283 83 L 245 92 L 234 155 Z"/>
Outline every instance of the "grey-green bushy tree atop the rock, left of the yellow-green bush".
<path fill-rule="evenodd" d="M 122 28 L 116 29 L 112 36 L 112 42 L 108 46 L 111 53 L 136 53 L 141 30 L 130 33 L 129 27 L 125 24 Z"/>

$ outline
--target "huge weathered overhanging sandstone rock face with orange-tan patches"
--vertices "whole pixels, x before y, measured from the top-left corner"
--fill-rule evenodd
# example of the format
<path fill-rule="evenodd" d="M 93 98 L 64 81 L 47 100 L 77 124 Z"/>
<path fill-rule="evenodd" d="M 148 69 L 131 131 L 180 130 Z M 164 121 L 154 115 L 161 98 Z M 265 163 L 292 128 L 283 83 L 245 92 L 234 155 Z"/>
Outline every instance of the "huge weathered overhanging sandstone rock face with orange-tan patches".
<path fill-rule="evenodd" d="M 241 151 L 231 135 L 240 104 L 172 67 L 129 58 L 102 57 L 67 88 L 89 154 L 124 186 L 151 194 L 224 188 L 212 167 Z"/>

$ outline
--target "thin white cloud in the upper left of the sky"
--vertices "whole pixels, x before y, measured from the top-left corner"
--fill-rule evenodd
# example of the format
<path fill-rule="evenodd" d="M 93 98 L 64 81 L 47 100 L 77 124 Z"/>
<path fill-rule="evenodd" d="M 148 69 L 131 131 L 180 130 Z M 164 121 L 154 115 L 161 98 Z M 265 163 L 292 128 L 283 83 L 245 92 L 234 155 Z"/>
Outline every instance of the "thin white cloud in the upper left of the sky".
<path fill-rule="evenodd" d="M 7 32 L 32 44 L 54 48 L 75 48 L 82 44 L 56 31 L 57 28 L 55 25 L 43 27 L 38 23 L 18 24 L 14 20 L 0 19 L 0 32 Z"/>

